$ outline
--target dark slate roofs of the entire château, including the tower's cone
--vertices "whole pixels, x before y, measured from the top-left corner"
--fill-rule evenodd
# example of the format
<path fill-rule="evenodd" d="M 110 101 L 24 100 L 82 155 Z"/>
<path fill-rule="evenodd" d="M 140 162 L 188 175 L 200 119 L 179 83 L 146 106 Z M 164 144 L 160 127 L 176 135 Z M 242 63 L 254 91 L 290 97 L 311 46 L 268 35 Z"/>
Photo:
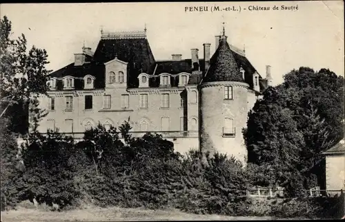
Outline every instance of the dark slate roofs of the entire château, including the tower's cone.
<path fill-rule="evenodd" d="M 233 47 L 233 46 L 231 46 Z M 240 81 L 243 82 L 239 67 L 245 70 L 245 80 L 253 88 L 253 74 L 255 68 L 248 59 L 231 49 L 226 38 L 221 38 L 219 47 L 210 59 L 210 69 L 203 82 L 212 81 Z M 139 87 L 138 76 L 141 73 L 150 75 L 150 87 L 159 87 L 159 74 L 168 73 L 171 87 L 177 87 L 179 79 L 177 74 L 187 72 L 190 74 L 188 84 L 199 84 L 204 70 L 204 59 L 199 58 L 199 64 L 195 63 L 192 68 L 192 60 L 155 60 L 150 45 L 145 35 L 131 36 L 130 38 L 101 38 L 93 56 L 86 54 L 86 63 L 75 66 L 70 63 L 49 76 L 62 78 L 63 76 L 74 76 L 75 89 L 83 89 L 83 77 L 90 74 L 95 76 L 95 89 L 105 87 L 105 66 L 104 63 L 117 57 L 128 63 L 128 87 Z M 197 70 L 201 72 L 197 73 Z M 260 88 L 266 88 L 267 83 L 259 76 Z M 58 80 L 57 89 L 62 89 L 62 80 Z"/>

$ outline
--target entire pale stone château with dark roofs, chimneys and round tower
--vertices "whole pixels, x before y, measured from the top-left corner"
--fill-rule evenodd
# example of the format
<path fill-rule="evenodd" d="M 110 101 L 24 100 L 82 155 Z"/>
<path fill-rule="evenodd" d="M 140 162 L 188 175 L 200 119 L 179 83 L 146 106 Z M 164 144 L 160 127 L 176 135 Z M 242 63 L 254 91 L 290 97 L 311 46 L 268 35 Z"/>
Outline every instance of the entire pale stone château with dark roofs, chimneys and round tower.
<path fill-rule="evenodd" d="M 219 151 L 244 161 L 242 128 L 248 111 L 272 84 L 270 66 L 262 78 L 244 50 L 227 42 L 223 29 L 210 43 L 190 49 L 190 58 L 172 54 L 156 60 L 144 32 L 103 32 L 92 52 L 83 47 L 75 62 L 52 72 L 48 96 L 39 96 L 48 115 L 38 130 L 59 129 L 81 138 L 97 124 L 130 122 L 132 135 L 157 132 L 175 151 Z"/>

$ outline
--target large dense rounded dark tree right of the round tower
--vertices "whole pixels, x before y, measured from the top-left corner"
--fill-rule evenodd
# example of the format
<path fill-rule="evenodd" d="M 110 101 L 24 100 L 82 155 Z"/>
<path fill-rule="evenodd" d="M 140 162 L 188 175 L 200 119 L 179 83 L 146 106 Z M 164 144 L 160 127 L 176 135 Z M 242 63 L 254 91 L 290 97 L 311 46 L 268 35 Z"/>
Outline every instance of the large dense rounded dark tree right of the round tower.
<path fill-rule="evenodd" d="M 322 183 L 322 152 L 344 136 L 343 120 L 344 78 L 328 69 L 294 69 L 248 114 L 248 162 L 273 169 L 274 181 L 264 184 L 316 186 Z"/>

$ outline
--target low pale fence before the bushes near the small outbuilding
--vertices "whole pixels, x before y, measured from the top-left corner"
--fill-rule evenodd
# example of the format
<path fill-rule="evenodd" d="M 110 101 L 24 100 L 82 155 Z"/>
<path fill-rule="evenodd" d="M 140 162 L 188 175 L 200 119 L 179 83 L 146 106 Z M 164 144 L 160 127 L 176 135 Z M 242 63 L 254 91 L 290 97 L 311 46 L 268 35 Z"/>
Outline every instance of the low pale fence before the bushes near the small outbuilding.
<path fill-rule="evenodd" d="M 308 193 L 308 197 L 325 197 L 342 195 L 344 193 L 344 190 L 319 190 L 311 188 L 310 190 L 304 190 L 304 192 Z M 250 197 L 284 197 L 284 189 L 253 188 L 248 190 L 247 194 Z"/>

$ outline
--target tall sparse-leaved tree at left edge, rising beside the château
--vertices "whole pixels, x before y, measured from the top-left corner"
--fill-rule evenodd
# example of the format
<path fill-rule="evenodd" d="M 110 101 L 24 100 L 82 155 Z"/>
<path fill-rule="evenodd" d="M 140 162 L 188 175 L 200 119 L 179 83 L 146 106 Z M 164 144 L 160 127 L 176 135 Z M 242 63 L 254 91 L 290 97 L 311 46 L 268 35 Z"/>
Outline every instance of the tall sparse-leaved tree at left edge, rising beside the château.
<path fill-rule="evenodd" d="M 34 93 L 46 93 L 48 54 L 45 49 L 35 46 L 27 52 L 27 41 L 23 34 L 16 40 L 11 39 L 12 23 L 7 16 L 0 19 L 0 30 L 0 118 L 7 115 L 15 125 L 17 121 L 23 122 L 21 117 L 23 112 L 27 113 L 29 103 L 37 104 Z M 13 111 L 18 111 L 19 105 L 23 108 L 16 116 Z M 14 108 L 12 111 L 11 107 Z M 36 115 L 43 114 L 37 109 L 32 111 Z M 12 126 L 12 129 L 15 128 Z"/>

